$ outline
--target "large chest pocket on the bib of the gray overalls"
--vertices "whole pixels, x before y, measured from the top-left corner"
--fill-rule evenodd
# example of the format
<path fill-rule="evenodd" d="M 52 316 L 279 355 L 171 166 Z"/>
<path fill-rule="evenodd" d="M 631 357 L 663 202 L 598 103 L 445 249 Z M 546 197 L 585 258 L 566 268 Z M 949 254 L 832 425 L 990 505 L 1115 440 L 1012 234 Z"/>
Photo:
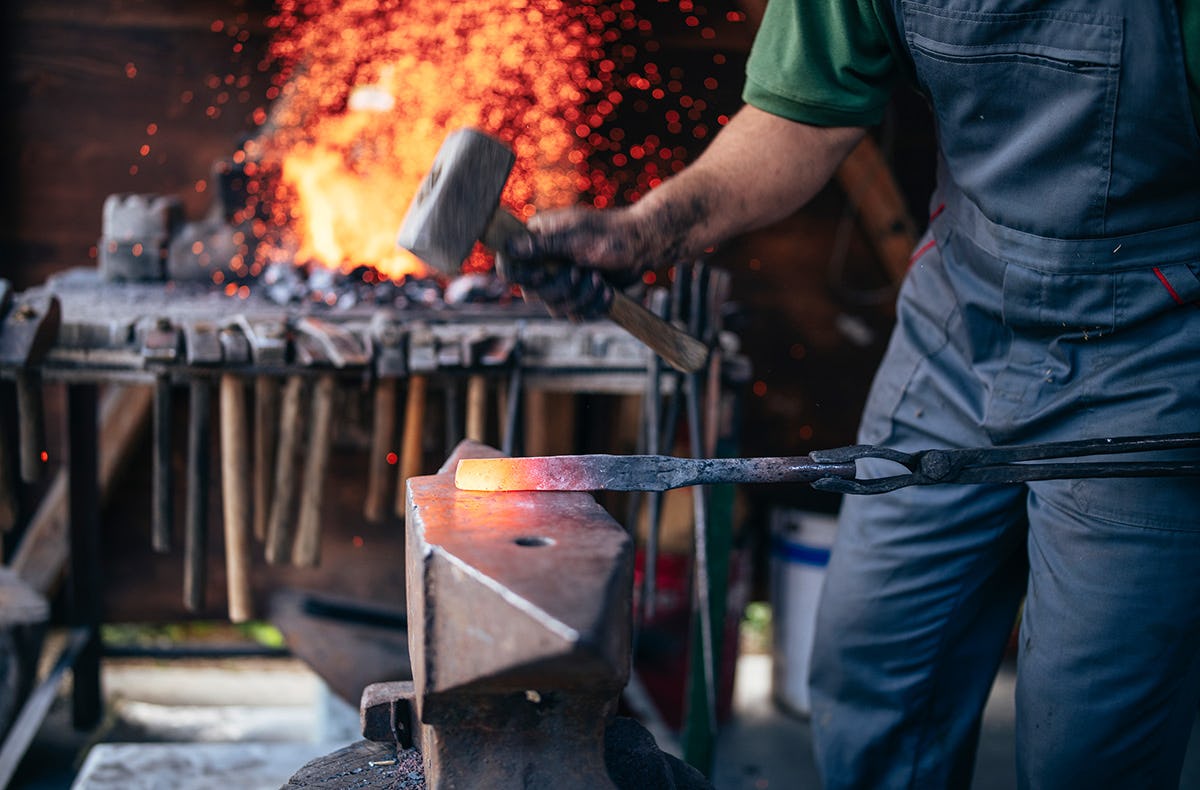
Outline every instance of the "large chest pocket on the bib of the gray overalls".
<path fill-rule="evenodd" d="M 1103 235 L 1121 19 L 948 11 L 911 0 L 901 11 L 917 78 L 964 193 L 990 220 L 1019 231 Z"/>

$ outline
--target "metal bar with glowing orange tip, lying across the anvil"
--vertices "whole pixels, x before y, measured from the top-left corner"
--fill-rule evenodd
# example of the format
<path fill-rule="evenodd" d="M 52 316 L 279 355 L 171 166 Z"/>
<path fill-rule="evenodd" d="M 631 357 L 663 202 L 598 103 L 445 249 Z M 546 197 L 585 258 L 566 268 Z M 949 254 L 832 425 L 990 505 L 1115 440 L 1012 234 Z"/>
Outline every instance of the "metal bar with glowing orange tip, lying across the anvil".
<path fill-rule="evenodd" d="M 463 459 L 455 472 L 455 485 L 467 491 L 666 491 L 714 483 L 812 483 L 833 477 L 853 478 L 854 463 L 817 463 L 808 455 L 553 455 Z"/>

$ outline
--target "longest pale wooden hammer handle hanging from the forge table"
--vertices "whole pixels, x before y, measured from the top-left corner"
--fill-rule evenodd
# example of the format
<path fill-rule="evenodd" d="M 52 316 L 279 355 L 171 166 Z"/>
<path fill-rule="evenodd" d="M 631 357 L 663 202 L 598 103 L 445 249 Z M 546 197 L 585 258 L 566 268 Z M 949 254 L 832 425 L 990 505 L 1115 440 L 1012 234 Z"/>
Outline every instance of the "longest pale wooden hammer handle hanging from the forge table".
<path fill-rule="evenodd" d="M 241 378 L 221 377 L 221 502 L 224 513 L 229 621 L 253 617 L 250 593 L 250 448 Z"/>

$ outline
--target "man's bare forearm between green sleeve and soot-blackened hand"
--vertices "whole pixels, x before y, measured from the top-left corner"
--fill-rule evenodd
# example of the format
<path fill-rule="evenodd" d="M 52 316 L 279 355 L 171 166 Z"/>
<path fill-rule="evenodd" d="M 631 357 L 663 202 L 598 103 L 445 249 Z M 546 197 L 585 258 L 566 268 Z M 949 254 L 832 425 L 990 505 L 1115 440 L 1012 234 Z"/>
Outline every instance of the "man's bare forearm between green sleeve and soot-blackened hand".
<path fill-rule="evenodd" d="M 809 202 L 862 139 L 859 127 L 821 127 L 744 107 L 704 154 L 635 203 L 662 259 L 680 261 L 780 220 Z"/>

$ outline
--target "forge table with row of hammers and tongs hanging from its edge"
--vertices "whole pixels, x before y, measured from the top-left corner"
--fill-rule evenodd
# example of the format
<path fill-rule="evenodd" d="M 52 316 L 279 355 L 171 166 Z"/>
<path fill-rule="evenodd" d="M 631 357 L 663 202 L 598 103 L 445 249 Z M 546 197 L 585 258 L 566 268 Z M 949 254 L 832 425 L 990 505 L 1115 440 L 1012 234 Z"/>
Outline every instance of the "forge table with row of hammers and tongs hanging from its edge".
<path fill-rule="evenodd" d="M 253 462 L 244 457 L 240 467 L 256 478 L 253 491 L 235 491 L 222 480 L 226 539 L 229 545 L 229 521 L 247 513 L 242 507 L 239 515 L 230 501 L 258 498 L 253 533 L 265 541 L 268 558 L 272 559 L 272 540 L 278 538 L 276 553 L 282 558 L 290 545 L 292 561 L 296 564 L 317 562 L 313 531 L 317 528 L 313 514 L 319 511 L 323 475 L 322 455 L 328 459 L 329 431 L 332 418 L 330 393 L 338 387 L 367 388 L 374 394 L 377 420 L 374 435 L 383 427 L 380 419 L 396 419 L 397 385 L 408 393 L 406 409 L 413 408 L 414 399 L 424 399 L 430 387 L 440 389 L 448 402 L 457 399 L 461 384 L 466 383 L 468 397 L 479 387 L 492 387 L 497 400 L 506 405 L 502 425 L 497 431 L 500 448 L 509 454 L 520 454 L 518 415 L 522 393 L 529 389 L 574 394 L 617 394 L 641 396 L 643 405 L 640 449 L 661 450 L 662 436 L 676 420 L 689 420 L 689 435 L 695 454 L 712 454 L 716 436 L 718 401 L 721 394 L 736 393 L 749 378 L 749 365 L 740 355 L 737 337 L 721 329 L 719 315 L 727 291 L 725 273 L 709 269 L 706 264 L 679 268 L 682 283 L 676 283 L 674 293 L 666 288 L 650 288 L 644 303 L 652 310 L 702 337 L 712 349 L 708 369 L 701 373 L 682 375 L 666 367 L 652 352 L 624 329 L 607 322 L 570 323 L 546 316 L 541 305 L 526 304 L 520 299 L 503 304 L 430 304 L 395 307 L 390 305 L 359 304 L 348 309 L 330 307 L 324 301 L 276 304 L 253 289 L 239 298 L 227 295 L 223 289 L 208 283 L 184 281 L 120 282 L 104 276 L 97 269 L 72 269 L 48 280 L 43 286 L 24 293 L 12 293 L 7 283 L 0 283 L 0 376 L 17 381 L 19 400 L 19 438 L 0 448 L 5 455 L 18 450 L 22 457 L 23 479 L 31 481 L 38 473 L 37 453 L 44 448 L 44 431 L 40 411 L 42 382 L 58 382 L 66 391 L 66 419 L 64 442 L 66 444 L 66 474 L 68 477 L 68 533 L 72 546 L 70 581 L 70 606 L 72 624 L 90 632 L 88 645 L 77 651 L 76 666 L 76 722 L 90 726 L 100 718 L 100 641 L 101 575 L 98 568 L 98 486 L 97 480 L 97 405 L 100 387 L 107 384 L 150 385 L 154 389 L 154 454 L 156 472 L 152 486 L 151 528 L 155 549 L 168 551 L 174 532 L 170 496 L 175 487 L 169 478 L 169 426 L 173 393 L 186 388 L 190 391 L 190 430 L 187 448 L 187 504 L 185 508 L 185 604 L 190 609 L 203 605 L 204 577 L 203 535 L 208 528 L 209 514 L 199 496 L 209 486 L 206 455 L 210 451 L 208 402 L 212 393 L 220 395 L 222 420 L 227 412 L 238 412 L 236 420 L 248 421 L 250 409 L 241 402 L 251 389 L 256 400 L 280 393 L 274 401 L 276 411 L 282 411 L 281 427 L 289 420 L 296 421 L 296 409 L 311 409 L 308 421 L 308 447 L 304 475 L 304 497 L 299 517 L 289 517 L 287 510 L 263 498 L 266 486 L 262 485 L 268 472 L 259 468 L 264 459 L 270 462 L 270 451 L 254 448 Z M 690 283 L 690 285 L 689 285 Z M 707 286 L 707 291 L 702 288 Z M 690 316 L 680 313 L 686 303 L 682 293 L 691 289 Z M 244 292 L 245 293 L 245 292 Z M 686 311 L 685 311 L 686 312 Z M 250 384 L 253 383 L 253 388 Z M 264 389 L 265 388 L 265 389 Z M 289 393 L 302 393 L 304 400 L 289 405 Z M 712 390 L 716 399 L 701 406 L 702 394 Z M 694 396 L 684 397 L 688 393 Z M 686 402 L 686 403 L 685 403 Z M 647 408 L 648 405 L 654 405 Z M 235 409 L 234 406 L 238 406 Z M 272 415 L 270 401 L 254 406 L 254 420 L 277 420 Z M 686 408 L 686 412 L 684 409 Z M 290 411 L 289 411 L 290 409 Z M 707 424 L 701 411 L 708 413 Z M 446 419 L 455 409 L 446 409 Z M 412 414 L 408 419 L 413 419 Z M 420 417 L 416 418 L 420 421 Z M 304 421 L 304 420 L 300 420 Z M 472 417 L 467 417 L 468 431 Z M 449 425 L 448 436 L 463 435 L 462 426 Z M 253 431 L 275 442 L 282 433 Z M 222 433 L 222 436 L 226 436 Z M 322 438 L 324 437 L 324 438 Z M 468 438 L 482 438 L 472 437 Z M 17 447 L 12 447 L 16 444 Z M 407 442 L 406 442 L 407 444 Z M 282 445 L 281 445 L 282 447 Z M 312 451 L 312 448 L 324 447 Z M 378 519 L 389 504 L 384 501 L 386 475 L 396 475 L 397 469 L 383 461 L 385 445 L 372 448 L 372 463 L 367 480 L 367 517 Z M 280 449 L 278 447 L 275 449 Z M 265 453 L 265 455 L 264 455 Z M 398 480 L 421 473 L 420 444 L 415 450 L 402 448 L 401 455 L 416 454 L 416 459 L 398 459 Z M 250 455 L 250 449 L 242 455 Z M 374 456 L 378 455 L 379 459 Z M 236 468 L 236 467 L 235 467 Z M 222 478 L 229 478 L 224 474 Z M 11 479 L 11 478 L 10 478 Z M 278 480 L 280 478 L 276 478 Z M 234 483 L 236 485 L 236 480 Z M 248 485 L 248 480 L 244 483 Z M 395 511 L 403 513 L 403 486 Z M 294 492 L 293 492 L 294 493 Z M 11 496 L 7 492 L 5 496 Z M 274 498 L 280 496 L 274 491 Z M 703 499 L 703 497 L 701 497 Z M 0 505 L 5 497 L 0 496 Z M 713 647 L 714 630 L 712 614 L 720 611 L 718 602 L 724 602 L 727 557 L 721 547 L 727 546 L 731 535 L 731 508 L 718 505 L 724 516 L 710 519 L 703 505 L 698 505 L 697 523 L 707 523 L 697 556 L 700 577 L 709 583 L 697 596 L 697 614 L 704 621 L 702 660 L 694 666 L 704 666 L 703 672 L 691 683 L 689 704 L 691 718 L 697 719 L 701 732 L 696 747 L 696 761 L 710 759 L 710 744 L 715 719 L 713 719 L 713 674 L 716 651 Z M 306 509 L 305 509 L 306 508 Z M 654 508 L 652 508 L 652 511 Z M 306 515 L 306 513 L 308 515 Z M 715 523 L 725 519 L 726 523 Z M 293 534 L 278 537 L 272 527 L 290 522 Z M 250 525 L 239 525 L 241 540 L 248 541 Z M 265 533 L 265 534 L 264 534 Z M 714 539 L 713 535 L 716 535 Z M 652 523 L 652 543 L 656 543 Z M 306 547 L 304 547 L 306 546 Z M 708 551 L 704 551 L 708 546 Z M 80 551 L 80 549 L 83 549 Z M 653 551 L 648 558 L 648 583 L 653 588 Z M 232 557 L 227 558 L 232 562 Z M 245 569 L 229 567 L 230 618 L 251 617 L 247 603 Z M 713 583 L 716 581 L 718 583 Z M 644 594 L 644 591 L 643 591 Z M 650 597 L 649 600 L 653 600 Z M 698 648 L 700 646 L 697 646 Z M 704 696 L 709 699 L 703 699 Z M 696 700 L 700 700 L 696 702 Z M 708 711 L 704 714 L 703 711 Z M 703 719 L 703 722 L 701 722 Z M 686 746 L 686 744 L 685 744 Z"/>

